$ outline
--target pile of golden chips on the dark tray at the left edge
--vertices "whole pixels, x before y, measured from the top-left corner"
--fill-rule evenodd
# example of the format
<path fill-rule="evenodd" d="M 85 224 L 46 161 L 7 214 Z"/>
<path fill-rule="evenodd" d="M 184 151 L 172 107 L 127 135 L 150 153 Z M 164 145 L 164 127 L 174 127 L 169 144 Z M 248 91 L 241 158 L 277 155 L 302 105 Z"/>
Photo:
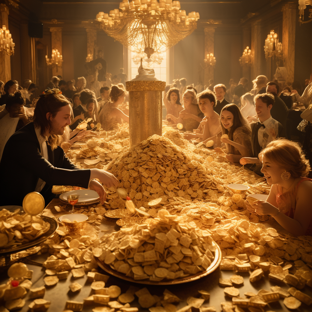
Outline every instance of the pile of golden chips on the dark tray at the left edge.
<path fill-rule="evenodd" d="M 0 211 L 0 247 L 13 248 L 32 241 L 50 228 L 50 223 L 38 216 L 28 214 L 19 215 L 20 209 L 10 212 L 7 209 Z"/>

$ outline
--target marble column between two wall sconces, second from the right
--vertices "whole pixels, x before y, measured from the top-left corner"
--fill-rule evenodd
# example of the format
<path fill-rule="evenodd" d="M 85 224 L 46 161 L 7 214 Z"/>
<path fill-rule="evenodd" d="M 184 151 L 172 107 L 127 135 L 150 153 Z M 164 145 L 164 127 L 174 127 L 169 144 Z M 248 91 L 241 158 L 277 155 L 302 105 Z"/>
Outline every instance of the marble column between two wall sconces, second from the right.
<path fill-rule="evenodd" d="M 251 25 L 251 51 L 252 51 L 252 66 L 251 80 L 261 75 L 261 53 L 264 53 L 264 41 L 261 41 L 261 25 L 260 20 Z"/>

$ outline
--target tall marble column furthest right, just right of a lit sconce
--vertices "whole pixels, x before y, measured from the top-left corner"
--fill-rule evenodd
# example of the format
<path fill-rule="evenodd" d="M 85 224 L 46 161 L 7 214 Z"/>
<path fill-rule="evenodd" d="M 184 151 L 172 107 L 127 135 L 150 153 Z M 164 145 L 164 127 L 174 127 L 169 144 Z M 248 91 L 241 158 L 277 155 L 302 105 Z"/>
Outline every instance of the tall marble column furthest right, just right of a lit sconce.
<path fill-rule="evenodd" d="M 287 3 L 282 7 L 283 12 L 283 54 L 284 67 L 287 69 L 287 81 L 294 82 L 295 71 L 295 30 L 296 30 L 296 5 Z"/>

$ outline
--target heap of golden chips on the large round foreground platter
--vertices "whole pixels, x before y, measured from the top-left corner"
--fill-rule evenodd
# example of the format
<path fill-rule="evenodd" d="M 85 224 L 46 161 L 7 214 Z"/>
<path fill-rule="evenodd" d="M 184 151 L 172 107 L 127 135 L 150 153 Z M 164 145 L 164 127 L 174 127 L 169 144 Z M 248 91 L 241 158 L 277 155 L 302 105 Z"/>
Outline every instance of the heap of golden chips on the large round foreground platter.
<path fill-rule="evenodd" d="M 157 218 L 102 236 L 96 250 L 105 265 L 134 280 L 161 281 L 207 270 L 216 246 L 209 230 L 162 209 Z"/>

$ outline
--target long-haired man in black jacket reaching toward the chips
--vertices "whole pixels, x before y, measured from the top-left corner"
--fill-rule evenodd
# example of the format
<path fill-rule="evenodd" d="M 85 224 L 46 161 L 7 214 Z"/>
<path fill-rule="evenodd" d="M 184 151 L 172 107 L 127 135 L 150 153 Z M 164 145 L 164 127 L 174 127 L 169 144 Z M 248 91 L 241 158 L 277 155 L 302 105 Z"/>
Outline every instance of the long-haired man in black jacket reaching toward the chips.
<path fill-rule="evenodd" d="M 95 190 L 103 203 L 105 187 L 117 187 L 111 173 L 98 169 L 78 169 L 58 146 L 65 127 L 71 123 L 71 103 L 58 90 L 46 90 L 34 111 L 34 121 L 15 132 L 7 141 L 1 162 L 2 205 L 22 206 L 30 192 L 40 192 L 46 204 L 54 195 L 53 185 L 73 185 Z M 98 182 L 95 179 L 101 181 Z"/>

